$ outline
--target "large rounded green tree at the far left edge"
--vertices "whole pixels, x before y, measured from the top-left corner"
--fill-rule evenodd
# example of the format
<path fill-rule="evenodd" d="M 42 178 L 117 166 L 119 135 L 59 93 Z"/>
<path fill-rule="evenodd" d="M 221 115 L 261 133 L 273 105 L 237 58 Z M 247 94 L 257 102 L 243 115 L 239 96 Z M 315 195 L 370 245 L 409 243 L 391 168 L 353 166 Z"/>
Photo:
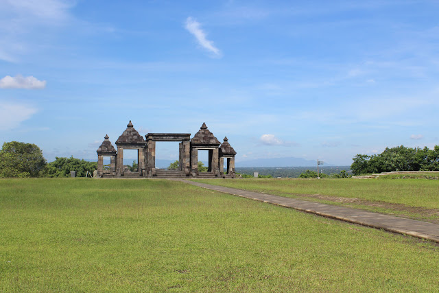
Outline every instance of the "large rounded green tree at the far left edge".
<path fill-rule="evenodd" d="M 43 152 L 34 143 L 11 141 L 0 150 L 0 177 L 38 177 L 46 165 Z"/>

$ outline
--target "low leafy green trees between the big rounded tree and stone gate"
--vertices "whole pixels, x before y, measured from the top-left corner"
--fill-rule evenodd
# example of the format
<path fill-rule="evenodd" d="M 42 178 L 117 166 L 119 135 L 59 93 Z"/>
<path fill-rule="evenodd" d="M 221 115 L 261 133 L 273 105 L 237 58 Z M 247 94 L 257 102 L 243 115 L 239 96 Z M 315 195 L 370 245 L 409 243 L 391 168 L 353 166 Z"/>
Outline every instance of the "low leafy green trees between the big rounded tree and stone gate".
<path fill-rule="evenodd" d="M 97 169 L 97 162 L 70 158 L 58 158 L 47 164 L 47 176 L 49 177 L 69 177 L 71 171 L 76 171 L 76 176 L 84 177 L 86 172 L 93 174 Z"/>

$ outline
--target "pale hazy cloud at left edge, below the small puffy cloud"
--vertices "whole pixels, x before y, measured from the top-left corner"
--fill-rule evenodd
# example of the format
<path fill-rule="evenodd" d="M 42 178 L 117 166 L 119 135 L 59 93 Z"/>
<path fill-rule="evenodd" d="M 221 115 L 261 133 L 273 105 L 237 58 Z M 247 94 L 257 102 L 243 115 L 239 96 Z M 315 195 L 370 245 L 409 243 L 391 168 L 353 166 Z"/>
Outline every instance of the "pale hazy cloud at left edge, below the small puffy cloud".
<path fill-rule="evenodd" d="M 38 110 L 32 106 L 0 102 L 0 130 L 11 130 L 32 117 Z"/>

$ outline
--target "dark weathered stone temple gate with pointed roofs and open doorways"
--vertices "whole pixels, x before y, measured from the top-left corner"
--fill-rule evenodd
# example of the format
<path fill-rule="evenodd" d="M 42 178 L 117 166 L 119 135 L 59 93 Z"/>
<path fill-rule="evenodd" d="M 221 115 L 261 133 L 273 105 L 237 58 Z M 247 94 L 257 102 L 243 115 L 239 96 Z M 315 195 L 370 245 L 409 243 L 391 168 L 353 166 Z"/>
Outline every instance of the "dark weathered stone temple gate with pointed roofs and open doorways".
<path fill-rule="evenodd" d="M 156 168 L 156 141 L 179 141 L 179 166 L 177 170 Z M 108 135 L 97 149 L 97 176 L 112 178 L 235 178 L 236 152 L 227 137 L 220 143 L 207 129 L 205 123 L 191 139 L 190 133 L 148 133 L 145 139 L 134 129 L 131 121 L 116 141 L 117 151 Z M 123 150 L 137 150 L 137 169 L 130 170 L 123 165 Z M 207 172 L 198 170 L 198 151 L 209 152 Z M 110 159 L 104 165 L 104 158 Z M 224 159 L 227 168 L 224 172 Z"/>

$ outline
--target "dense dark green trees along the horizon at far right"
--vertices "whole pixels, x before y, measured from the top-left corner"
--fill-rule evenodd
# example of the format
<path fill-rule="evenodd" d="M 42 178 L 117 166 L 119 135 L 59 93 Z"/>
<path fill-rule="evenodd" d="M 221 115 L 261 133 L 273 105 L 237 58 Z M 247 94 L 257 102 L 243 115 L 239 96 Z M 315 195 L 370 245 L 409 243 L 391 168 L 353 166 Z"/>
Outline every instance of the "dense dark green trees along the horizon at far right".
<path fill-rule="evenodd" d="M 354 175 L 392 171 L 438 171 L 439 145 L 429 148 L 407 148 L 404 145 L 385 148 L 381 154 L 357 154 L 351 170 Z"/>

